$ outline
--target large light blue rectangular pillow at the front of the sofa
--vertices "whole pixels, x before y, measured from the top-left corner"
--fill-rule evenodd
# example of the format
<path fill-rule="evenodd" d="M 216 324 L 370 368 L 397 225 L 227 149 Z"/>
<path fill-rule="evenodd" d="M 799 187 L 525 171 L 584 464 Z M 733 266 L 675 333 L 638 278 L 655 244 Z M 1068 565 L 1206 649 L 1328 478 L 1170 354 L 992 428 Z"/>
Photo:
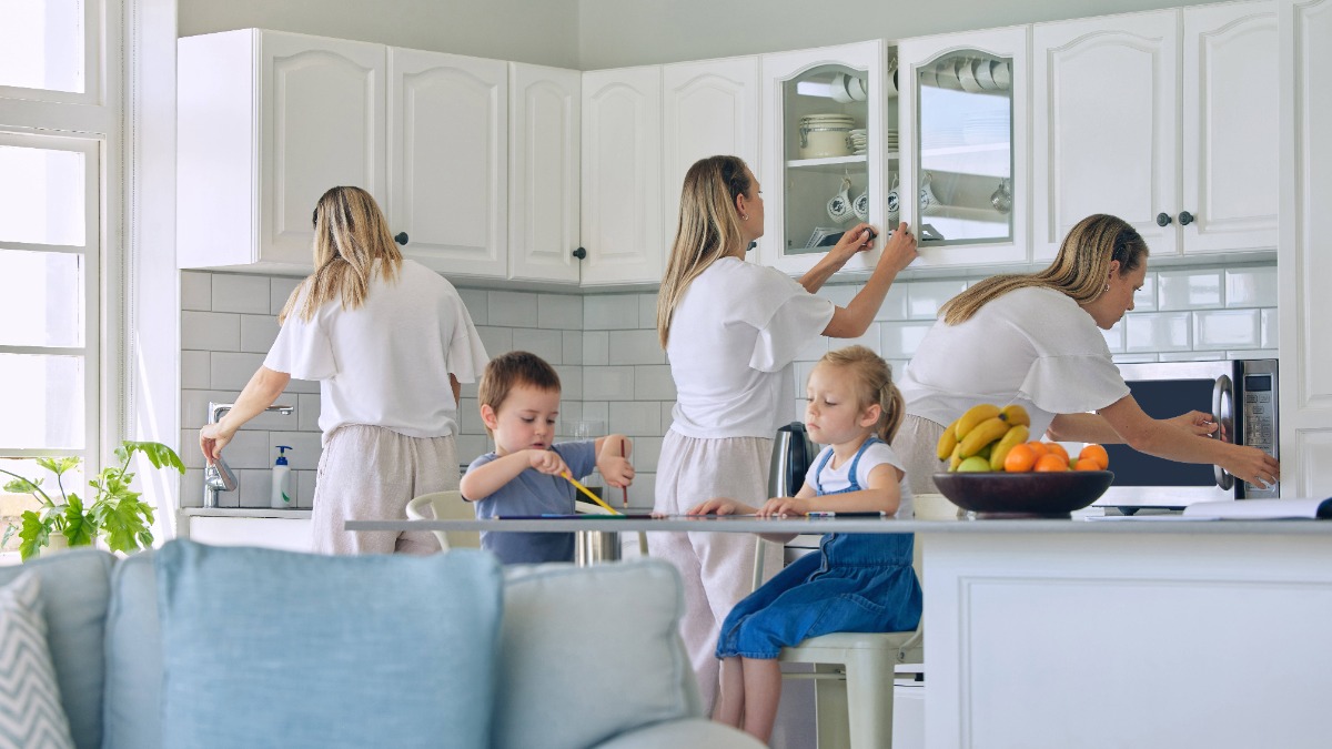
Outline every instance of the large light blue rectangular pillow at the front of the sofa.
<path fill-rule="evenodd" d="M 164 746 L 489 744 L 502 601 L 490 554 L 172 541 L 155 561 Z"/>

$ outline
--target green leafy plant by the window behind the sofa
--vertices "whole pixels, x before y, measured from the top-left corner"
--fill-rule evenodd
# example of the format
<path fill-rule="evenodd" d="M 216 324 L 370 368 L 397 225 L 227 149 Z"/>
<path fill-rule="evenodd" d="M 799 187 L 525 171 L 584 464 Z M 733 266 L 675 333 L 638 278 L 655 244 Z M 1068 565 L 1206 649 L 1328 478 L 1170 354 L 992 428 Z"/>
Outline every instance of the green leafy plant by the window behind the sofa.
<path fill-rule="evenodd" d="M 41 457 L 36 461 L 56 474 L 59 498 L 41 489 L 41 478 L 32 481 L 0 468 L 0 473 L 12 477 L 4 485 L 5 492 L 32 494 L 41 502 L 36 510 L 24 510 L 21 526 L 11 524 L 5 529 L 4 541 L 17 530 L 19 554 L 24 560 L 51 544 L 52 538 L 63 540 L 69 546 L 88 546 L 101 538 L 112 552 L 136 552 L 151 546 L 153 508 L 139 498 L 140 492 L 131 489 L 135 474 L 129 473 L 129 461 L 135 453 L 148 457 L 153 468 L 174 468 L 185 473 L 185 464 L 166 445 L 125 440 L 116 448 L 116 465 L 103 468 L 88 481 L 92 500 L 85 502 L 79 494 L 65 492 L 61 482 L 65 472 L 79 465 L 77 457 Z"/>

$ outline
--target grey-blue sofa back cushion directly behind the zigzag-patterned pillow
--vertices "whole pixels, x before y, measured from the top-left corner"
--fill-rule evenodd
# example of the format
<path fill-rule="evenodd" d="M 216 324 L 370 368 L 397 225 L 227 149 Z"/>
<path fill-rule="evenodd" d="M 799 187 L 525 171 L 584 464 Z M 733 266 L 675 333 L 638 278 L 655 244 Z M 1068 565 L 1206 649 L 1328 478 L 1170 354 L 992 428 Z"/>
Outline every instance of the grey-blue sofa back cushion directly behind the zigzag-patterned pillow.
<path fill-rule="evenodd" d="M 60 702 L 69 718 L 69 734 L 79 749 L 101 746 L 103 624 L 111 597 L 111 564 L 97 549 L 75 549 L 0 566 L 0 585 L 24 570 L 41 578 L 47 613 L 47 644 L 60 684 Z"/>

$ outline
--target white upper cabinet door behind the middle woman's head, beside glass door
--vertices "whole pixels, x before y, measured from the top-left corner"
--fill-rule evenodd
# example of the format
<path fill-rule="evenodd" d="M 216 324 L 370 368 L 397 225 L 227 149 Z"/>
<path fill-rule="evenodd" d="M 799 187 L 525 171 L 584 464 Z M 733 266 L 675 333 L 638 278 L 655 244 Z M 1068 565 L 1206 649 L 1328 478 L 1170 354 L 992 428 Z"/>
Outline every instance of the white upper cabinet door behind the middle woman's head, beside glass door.
<path fill-rule="evenodd" d="M 695 161 L 707 156 L 739 156 L 762 184 L 758 75 L 758 57 L 677 63 L 662 68 L 662 193 L 667 256 L 679 227 L 685 173 Z"/>

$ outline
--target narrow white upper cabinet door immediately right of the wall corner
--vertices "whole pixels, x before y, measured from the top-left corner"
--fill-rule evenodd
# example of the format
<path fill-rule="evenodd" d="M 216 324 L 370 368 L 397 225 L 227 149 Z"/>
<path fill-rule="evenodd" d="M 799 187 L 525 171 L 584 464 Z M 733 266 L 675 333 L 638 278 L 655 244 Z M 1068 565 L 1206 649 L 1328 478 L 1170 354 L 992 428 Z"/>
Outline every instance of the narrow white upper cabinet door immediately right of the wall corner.
<path fill-rule="evenodd" d="M 583 73 L 583 285 L 661 281 L 661 75 L 657 65 Z"/>

